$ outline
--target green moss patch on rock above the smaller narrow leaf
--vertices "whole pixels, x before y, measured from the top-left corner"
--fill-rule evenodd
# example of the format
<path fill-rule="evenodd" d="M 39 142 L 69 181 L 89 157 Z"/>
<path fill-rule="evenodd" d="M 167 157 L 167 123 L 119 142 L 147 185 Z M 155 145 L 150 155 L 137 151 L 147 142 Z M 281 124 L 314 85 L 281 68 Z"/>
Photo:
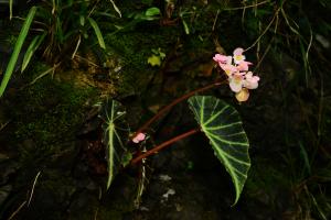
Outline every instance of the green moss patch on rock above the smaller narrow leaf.
<path fill-rule="evenodd" d="M 149 29 L 145 25 L 156 24 L 141 23 L 135 32 L 124 32 L 106 37 L 107 44 L 111 47 L 110 53 L 118 54 L 124 61 L 119 94 L 132 94 L 146 88 L 150 78 L 159 70 L 147 62 L 152 55 L 151 50 L 160 48 L 168 54 L 175 44 L 178 33 L 174 33 L 174 29 L 156 25 L 153 31 L 146 31 Z"/>

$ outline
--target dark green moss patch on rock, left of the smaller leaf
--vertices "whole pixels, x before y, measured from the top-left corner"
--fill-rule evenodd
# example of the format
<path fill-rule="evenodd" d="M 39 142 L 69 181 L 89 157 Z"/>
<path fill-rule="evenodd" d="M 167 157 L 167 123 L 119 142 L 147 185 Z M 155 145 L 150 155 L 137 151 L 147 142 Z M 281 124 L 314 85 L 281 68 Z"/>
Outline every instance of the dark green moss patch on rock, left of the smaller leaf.
<path fill-rule="evenodd" d="M 36 74 L 29 77 L 35 78 Z M 22 143 L 22 153 L 67 147 L 84 122 L 84 103 L 96 96 L 93 88 L 79 88 L 71 81 L 57 81 L 51 76 L 39 79 L 15 97 L 15 139 Z M 35 154 L 35 153 L 33 153 Z"/>

